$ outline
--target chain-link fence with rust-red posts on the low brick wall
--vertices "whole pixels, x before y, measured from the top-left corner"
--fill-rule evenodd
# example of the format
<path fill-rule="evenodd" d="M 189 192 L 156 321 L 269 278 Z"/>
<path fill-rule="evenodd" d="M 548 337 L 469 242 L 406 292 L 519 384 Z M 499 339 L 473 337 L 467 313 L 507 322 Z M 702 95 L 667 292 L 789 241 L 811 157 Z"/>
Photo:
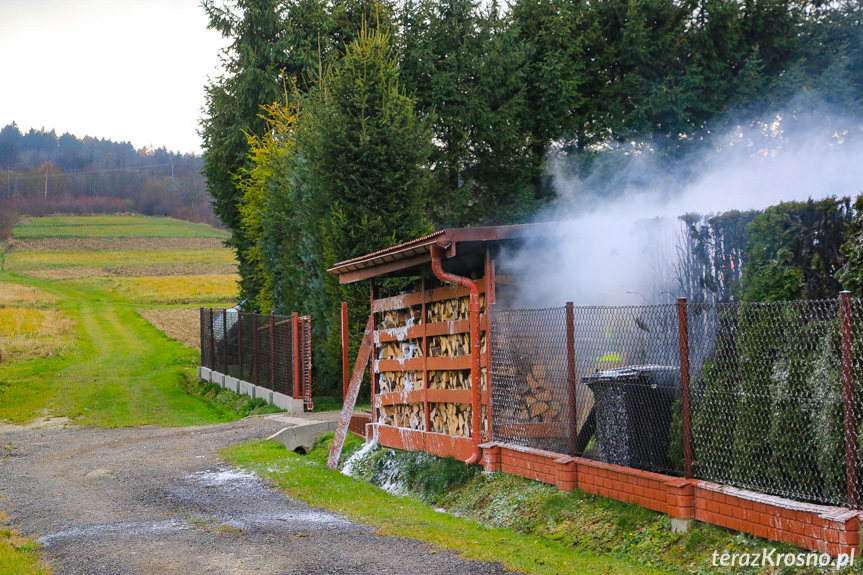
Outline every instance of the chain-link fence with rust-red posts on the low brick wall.
<path fill-rule="evenodd" d="M 863 302 L 844 302 L 493 306 L 493 439 L 859 507 Z"/>

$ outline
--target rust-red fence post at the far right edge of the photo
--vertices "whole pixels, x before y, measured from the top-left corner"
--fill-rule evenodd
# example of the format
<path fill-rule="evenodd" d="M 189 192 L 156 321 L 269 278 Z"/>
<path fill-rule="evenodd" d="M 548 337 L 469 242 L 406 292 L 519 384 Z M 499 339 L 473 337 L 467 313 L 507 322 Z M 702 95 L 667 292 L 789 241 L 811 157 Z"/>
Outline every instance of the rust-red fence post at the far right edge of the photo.
<path fill-rule="evenodd" d="M 856 509 L 860 504 L 860 477 L 857 466 L 857 402 L 854 399 L 854 355 L 851 330 L 851 293 L 839 293 L 839 316 L 842 328 L 842 391 L 845 412 L 845 481 L 848 488 L 848 506 Z"/>

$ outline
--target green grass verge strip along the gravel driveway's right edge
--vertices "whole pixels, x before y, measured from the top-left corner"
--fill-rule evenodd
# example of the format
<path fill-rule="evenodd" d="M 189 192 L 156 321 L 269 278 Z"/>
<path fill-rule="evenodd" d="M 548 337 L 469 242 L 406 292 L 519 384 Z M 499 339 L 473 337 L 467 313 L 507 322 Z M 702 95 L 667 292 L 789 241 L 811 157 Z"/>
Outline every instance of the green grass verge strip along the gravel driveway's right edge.
<path fill-rule="evenodd" d="M 346 453 L 356 450 L 359 444 L 359 440 L 350 439 Z M 385 535 L 411 537 L 461 552 L 466 559 L 501 561 L 509 569 L 536 575 L 665 572 L 574 550 L 533 534 L 485 527 L 436 512 L 416 498 L 395 497 L 382 489 L 369 489 L 367 483 L 326 469 L 321 464 L 326 451 L 324 443 L 311 456 L 304 457 L 288 452 L 279 443 L 260 441 L 237 445 L 221 454 L 300 501 L 343 513 Z"/>

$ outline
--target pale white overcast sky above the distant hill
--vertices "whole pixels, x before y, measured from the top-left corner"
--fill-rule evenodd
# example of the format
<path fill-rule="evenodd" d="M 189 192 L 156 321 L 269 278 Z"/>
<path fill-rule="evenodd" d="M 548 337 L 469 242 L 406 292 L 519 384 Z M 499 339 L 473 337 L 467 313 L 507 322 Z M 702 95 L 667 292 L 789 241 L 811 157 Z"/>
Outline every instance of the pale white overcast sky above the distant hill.
<path fill-rule="evenodd" d="M 200 0 L 0 0 L 0 127 L 200 153 L 227 44 Z"/>

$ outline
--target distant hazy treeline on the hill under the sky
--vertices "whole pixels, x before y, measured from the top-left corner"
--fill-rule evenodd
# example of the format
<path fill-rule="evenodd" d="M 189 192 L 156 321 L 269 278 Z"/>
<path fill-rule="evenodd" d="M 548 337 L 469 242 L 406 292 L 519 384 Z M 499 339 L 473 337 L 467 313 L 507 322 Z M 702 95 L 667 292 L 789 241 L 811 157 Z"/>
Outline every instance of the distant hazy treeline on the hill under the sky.
<path fill-rule="evenodd" d="M 0 201 L 26 215 L 137 212 L 216 224 L 203 160 L 12 124 L 0 129 Z"/>

